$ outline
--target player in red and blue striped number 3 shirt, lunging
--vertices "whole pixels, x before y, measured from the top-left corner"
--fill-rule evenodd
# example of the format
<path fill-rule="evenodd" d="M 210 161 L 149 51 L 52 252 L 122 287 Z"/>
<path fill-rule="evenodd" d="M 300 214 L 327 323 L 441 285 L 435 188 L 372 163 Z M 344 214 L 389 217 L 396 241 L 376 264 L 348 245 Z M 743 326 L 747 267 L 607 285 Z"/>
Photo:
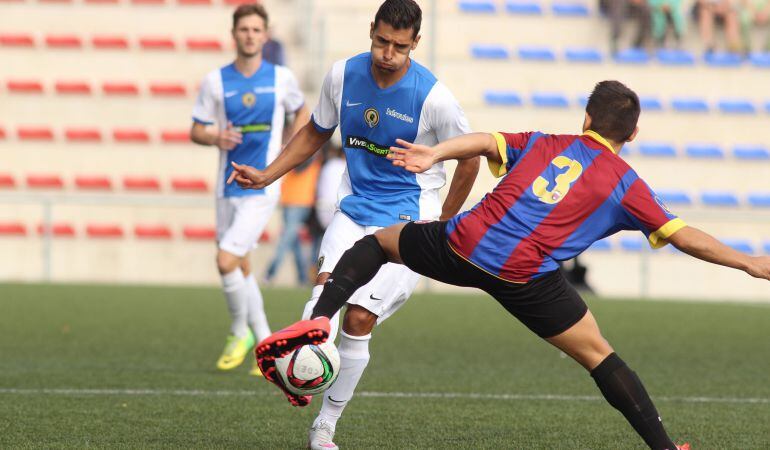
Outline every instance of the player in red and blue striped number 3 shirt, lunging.
<path fill-rule="evenodd" d="M 652 449 L 678 447 L 634 371 L 602 337 L 594 316 L 557 270 L 595 241 L 620 230 L 644 233 L 696 258 L 770 280 L 770 257 L 752 257 L 687 226 L 619 156 L 634 139 L 637 95 L 599 83 L 582 135 L 475 133 L 429 147 L 399 141 L 389 159 L 421 173 L 447 159 L 483 155 L 495 189 L 449 221 L 396 224 L 366 236 L 340 258 L 312 313 L 257 347 L 261 360 L 322 340 L 332 317 L 383 264 L 404 264 L 444 283 L 476 287 L 588 370 L 604 398 Z"/>

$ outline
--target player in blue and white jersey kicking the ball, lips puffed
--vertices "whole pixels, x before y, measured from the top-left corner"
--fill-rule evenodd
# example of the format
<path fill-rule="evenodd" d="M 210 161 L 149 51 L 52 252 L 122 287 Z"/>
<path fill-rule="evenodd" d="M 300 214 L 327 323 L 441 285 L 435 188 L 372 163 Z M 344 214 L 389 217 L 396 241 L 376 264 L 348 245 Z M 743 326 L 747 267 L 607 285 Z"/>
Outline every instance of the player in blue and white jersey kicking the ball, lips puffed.
<path fill-rule="evenodd" d="M 413 174 L 393 167 L 386 158 L 397 138 L 434 145 L 470 131 L 449 90 L 409 57 L 420 40 L 421 20 L 413 0 L 385 1 L 371 24 L 371 51 L 334 64 L 324 79 L 312 124 L 264 171 L 234 164 L 239 174 L 233 178 L 239 184 L 261 189 L 306 160 L 340 128 L 347 171 L 339 188 L 339 210 L 321 243 L 320 275 L 305 316 L 339 257 L 356 240 L 394 223 L 452 217 L 478 173 L 478 158 L 461 161 L 442 207 L 442 164 Z M 371 331 L 407 300 L 418 281 L 411 270 L 390 264 L 348 302 L 338 345 L 342 368 L 311 429 L 312 448 L 336 448 L 331 442 L 335 425 L 368 364 Z M 288 397 L 300 405 L 309 401 Z"/>

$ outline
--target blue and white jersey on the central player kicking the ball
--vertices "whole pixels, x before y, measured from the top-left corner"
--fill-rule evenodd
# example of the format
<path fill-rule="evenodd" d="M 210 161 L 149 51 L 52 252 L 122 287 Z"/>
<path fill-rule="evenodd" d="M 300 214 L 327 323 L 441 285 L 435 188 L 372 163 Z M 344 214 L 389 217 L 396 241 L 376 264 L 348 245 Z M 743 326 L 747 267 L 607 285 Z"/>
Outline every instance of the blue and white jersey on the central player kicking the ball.
<path fill-rule="evenodd" d="M 449 89 L 414 60 L 403 78 L 386 89 L 377 86 L 371 65 L 368 52 L 336 62 L 313 112 L 319 131 L 340 127 L 347 170 L 338 207 L 364 226 L 438 219 L 439 189 L 446 184 L 443 164 L 413 174 L 385 156 L 397 138 L 435 145 L 469 133 L 465 114 Z"/>

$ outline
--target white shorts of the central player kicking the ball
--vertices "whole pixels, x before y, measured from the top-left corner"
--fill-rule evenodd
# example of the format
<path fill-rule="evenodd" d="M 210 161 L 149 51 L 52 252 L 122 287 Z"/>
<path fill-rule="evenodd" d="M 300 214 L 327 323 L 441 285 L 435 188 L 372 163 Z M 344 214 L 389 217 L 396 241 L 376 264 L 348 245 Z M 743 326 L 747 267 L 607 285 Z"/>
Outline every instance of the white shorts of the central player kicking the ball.
<path fill-rule="evenodd" d="M 353 222 L 343 212 L 334 213 L 321 241 L 318 273 L 331 272 L 342 254 L 362 237 L 382 227 L 366 227 Z M 372 281 L 353 294 L 348 303 L 358 305 L 377 315 L 382 323 L 403 305 L 420 281 L 420 275 L 401 264 L 387 263 Z"/>

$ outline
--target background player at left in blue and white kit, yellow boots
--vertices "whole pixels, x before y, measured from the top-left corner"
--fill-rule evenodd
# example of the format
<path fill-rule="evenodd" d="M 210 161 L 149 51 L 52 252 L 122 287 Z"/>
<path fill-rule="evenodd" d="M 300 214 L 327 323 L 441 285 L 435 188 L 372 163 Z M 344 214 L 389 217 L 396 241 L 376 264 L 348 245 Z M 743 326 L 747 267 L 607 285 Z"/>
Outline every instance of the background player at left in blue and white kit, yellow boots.
<path fill-rule="evenodd" d="M 241 189 L 226 185 L 231 161 L 264 168 L 281 149 L 285 115 L 296 114 L 295 130 L 305 125 L 305 106 L 292 72 L 262 59 L 267 41 L 267 13 L 261 5 L 243 5 L 233 13 L 237 57 L 209 73 L 201 83 L 193 109 L 192 141 L 220 150 L 217 180 L 217 267 L 232 318 L 230 336 L 217 367 L 240 365 L 257 340 L 270 334 L 262 294 L 249 268 L 248 253 L 256 248 L 275 209 L 280 187 Z M 255 365 L 253 375 L 259 374 Z"/>

